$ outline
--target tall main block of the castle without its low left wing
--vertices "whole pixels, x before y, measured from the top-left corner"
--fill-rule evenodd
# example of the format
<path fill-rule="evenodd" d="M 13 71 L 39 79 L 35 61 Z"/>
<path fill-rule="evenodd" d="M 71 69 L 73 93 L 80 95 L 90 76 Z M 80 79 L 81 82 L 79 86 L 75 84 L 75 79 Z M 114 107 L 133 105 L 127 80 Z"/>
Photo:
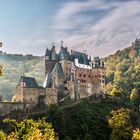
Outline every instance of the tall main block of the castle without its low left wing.
<path fill-rule="evenodd" d="M 78 100 L 104 92 L 104 62 L 99 57 L 91 60 L 83 52 L 68 51 L 62 44 L 59 53 L 56 53 L 54 45 L 50 50 L 46 49 L 45 74 L 47 73 L 55 81 L 60 100 L 65 96 Z"/>

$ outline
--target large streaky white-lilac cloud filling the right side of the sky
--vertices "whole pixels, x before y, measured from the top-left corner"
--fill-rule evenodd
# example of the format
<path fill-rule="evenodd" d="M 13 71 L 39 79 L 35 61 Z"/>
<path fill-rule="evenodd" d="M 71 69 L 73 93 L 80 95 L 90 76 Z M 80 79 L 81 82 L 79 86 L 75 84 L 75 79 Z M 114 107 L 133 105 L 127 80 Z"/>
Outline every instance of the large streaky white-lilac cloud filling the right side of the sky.
<path fill-rule="evenodd" d="M 139 0 L 66 3 L 54 17 L 56 39 L 61 37 L 68 47 L 105 56 L 127 47 L 140 36 L 139 9 Z M 103 14 L 98 17 L 100 11 Z"/>

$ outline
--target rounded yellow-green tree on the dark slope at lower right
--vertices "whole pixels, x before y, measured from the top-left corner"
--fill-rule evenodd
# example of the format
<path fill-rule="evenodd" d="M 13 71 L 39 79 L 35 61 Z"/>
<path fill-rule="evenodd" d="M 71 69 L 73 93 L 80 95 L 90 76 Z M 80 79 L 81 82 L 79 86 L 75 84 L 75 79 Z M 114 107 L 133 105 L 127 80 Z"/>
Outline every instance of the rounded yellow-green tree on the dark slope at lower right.
<path fill-rule="evenodd" d="M 131 121 L 129 109 L 118 109 L 111 111 L 108 118 L 109 127 L 112 129 L 110 140 L 131 139 Z"/>

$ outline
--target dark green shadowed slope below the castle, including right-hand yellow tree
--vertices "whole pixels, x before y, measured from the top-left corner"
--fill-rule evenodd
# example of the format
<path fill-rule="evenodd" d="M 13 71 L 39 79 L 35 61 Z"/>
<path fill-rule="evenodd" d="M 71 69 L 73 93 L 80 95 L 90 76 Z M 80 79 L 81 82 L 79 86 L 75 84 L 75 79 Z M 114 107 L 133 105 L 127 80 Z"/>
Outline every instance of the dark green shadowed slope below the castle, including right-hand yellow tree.
<path fill-rule="evenodd" d="M 13 111 L 9 118 L 18 121 L 24 118 L 45 118 L 52 124 L 60 140 L 131 139 L 131 128 L 140 127 L 140 113 L 131 110 L 124 100 L 96 101 L 97 99 L 90 98 L 75 102 L 74 105 L 72 103 L 71 106 L 51 105 L 44 111 L 34 111 L 31 114 Z M 0 121 L 0 124 L 3 123 Z M 0 129 L 5 132 L 9 130 L 9 126 L 3 124 Z M 24 134 L 24 131 L 20 131 L 22 132 Z"/>

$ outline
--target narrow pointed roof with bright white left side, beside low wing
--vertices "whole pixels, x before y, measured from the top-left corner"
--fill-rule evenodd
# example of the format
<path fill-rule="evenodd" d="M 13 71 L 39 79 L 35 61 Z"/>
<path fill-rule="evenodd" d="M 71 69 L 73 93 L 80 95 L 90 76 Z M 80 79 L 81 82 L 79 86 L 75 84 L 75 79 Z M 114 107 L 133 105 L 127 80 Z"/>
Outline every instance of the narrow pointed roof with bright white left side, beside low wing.
<path fill-rule="evenodd" d="M 45 78 L 43 87 L 44 87 L 44 88 L 51 88 L 51 86 L 52 86 L 52 76 L 51 76 L 51 74 L 48 72 L 47 75 L 46 75 L 46 78 Z"/>

